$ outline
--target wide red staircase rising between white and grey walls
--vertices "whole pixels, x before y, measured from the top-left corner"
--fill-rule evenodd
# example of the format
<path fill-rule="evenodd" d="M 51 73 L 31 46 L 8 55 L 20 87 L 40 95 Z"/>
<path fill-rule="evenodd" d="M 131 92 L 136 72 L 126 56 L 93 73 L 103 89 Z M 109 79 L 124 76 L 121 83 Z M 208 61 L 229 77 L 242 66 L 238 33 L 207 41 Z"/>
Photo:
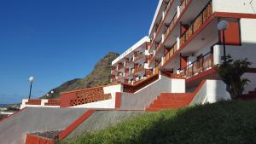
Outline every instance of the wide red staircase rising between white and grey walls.
<path fill-rule="evenodd" d="M 164 109 L 177 109 L 186 107 L 189 106 L 193 98 L 193 93 L 161 93 L 159 96 L 157 96 L 157 99 L 154 100 L 148 108 L 146 108 L 146 111 L 156 112 Z"/>

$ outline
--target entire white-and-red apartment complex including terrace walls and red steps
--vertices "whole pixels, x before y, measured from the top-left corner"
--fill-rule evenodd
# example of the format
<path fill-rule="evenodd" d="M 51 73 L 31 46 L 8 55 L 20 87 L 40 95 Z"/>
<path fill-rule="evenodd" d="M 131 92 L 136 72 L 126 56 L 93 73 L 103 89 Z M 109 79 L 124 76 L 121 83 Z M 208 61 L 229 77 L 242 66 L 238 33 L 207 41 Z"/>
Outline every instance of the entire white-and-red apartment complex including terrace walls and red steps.
<path fill-rule="evenodd" d="M 252 62 L 242 76 L 250 80 L 243 95 L 255 98 L 255 10 L 255 0 L 160 0 L 148 37 L 113 60 L 112 84 L 21 106 L 159 111 L 230 100 L 215 67 L 224 48 L 233 59 Z M 228 23 L 224 30 L 220 21 Z"/>

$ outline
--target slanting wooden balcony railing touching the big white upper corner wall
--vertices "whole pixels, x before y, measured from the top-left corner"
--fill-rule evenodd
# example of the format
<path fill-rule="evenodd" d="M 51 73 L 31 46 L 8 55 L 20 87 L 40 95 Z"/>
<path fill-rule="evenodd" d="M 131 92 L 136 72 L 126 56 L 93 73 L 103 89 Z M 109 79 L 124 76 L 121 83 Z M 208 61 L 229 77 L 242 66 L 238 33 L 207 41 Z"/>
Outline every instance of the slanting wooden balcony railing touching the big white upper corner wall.
<path fill-rule="evenodd" d="M 197 32 L 201 26 L 206 22 L 206 20 L 212 15 L 212 1 L 207 3 L 207 6 L 201 11 L 200 14 L 195 18 L 192 24 L 189 26 L 189 29 L 184 32 L 183 36 L 180 38 L 180 45 L 183 47 L 183 44 L 189 41 L 195 32 Z"/>

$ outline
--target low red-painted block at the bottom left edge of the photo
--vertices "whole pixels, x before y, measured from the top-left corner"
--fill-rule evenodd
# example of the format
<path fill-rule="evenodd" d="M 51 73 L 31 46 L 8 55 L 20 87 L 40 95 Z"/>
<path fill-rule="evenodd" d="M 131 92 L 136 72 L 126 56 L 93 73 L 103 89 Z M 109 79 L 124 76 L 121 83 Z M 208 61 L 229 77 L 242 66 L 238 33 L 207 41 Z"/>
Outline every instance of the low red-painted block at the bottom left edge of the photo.
<path fill-rule="evenodd" d="M 27 134 L 25 144 L 55 144 L 55 140 L 38 135 Z"/>

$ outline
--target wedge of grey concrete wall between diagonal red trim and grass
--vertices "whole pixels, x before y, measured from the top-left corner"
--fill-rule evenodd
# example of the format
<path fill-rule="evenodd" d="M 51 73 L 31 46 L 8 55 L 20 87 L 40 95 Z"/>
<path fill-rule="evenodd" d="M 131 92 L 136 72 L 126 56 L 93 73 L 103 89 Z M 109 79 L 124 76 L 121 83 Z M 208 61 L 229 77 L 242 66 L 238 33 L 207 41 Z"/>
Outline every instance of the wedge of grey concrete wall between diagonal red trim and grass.
<path fill-rule="evenodd" d="M 143 115 L 143 111 L 96 111 L 90 118 L 86 119 L 78 128 L 67 135 L 66 139 L 84 135 L 88 132 L 106 129 L 125 121 Z"/>

